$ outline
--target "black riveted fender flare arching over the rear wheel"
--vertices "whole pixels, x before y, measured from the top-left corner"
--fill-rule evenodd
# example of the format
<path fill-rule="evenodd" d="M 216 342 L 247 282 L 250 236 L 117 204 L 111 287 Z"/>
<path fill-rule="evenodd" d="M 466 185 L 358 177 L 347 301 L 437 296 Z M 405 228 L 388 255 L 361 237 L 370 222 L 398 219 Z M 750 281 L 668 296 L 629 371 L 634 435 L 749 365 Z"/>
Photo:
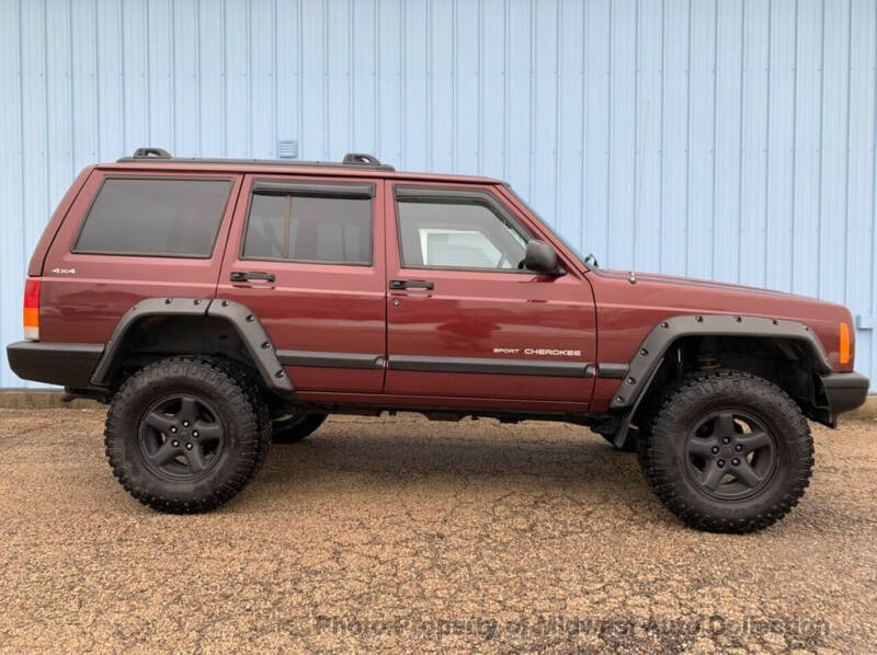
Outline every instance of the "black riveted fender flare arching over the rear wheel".
<path fill-rule="evenodd" d="M 118 320 L 103 354 L 91 375 L 95 387 L 109 387 L 114 365 L 124 355 L 125 335 L 147 317 L 216 317 L 229 322 L 255 363 L 267 389 L 281 394 L 295 391 L 289 376 L 277 359 L 276 348 L 262 322 L 249 307 L 223 298 L 144 298 Z"/>

